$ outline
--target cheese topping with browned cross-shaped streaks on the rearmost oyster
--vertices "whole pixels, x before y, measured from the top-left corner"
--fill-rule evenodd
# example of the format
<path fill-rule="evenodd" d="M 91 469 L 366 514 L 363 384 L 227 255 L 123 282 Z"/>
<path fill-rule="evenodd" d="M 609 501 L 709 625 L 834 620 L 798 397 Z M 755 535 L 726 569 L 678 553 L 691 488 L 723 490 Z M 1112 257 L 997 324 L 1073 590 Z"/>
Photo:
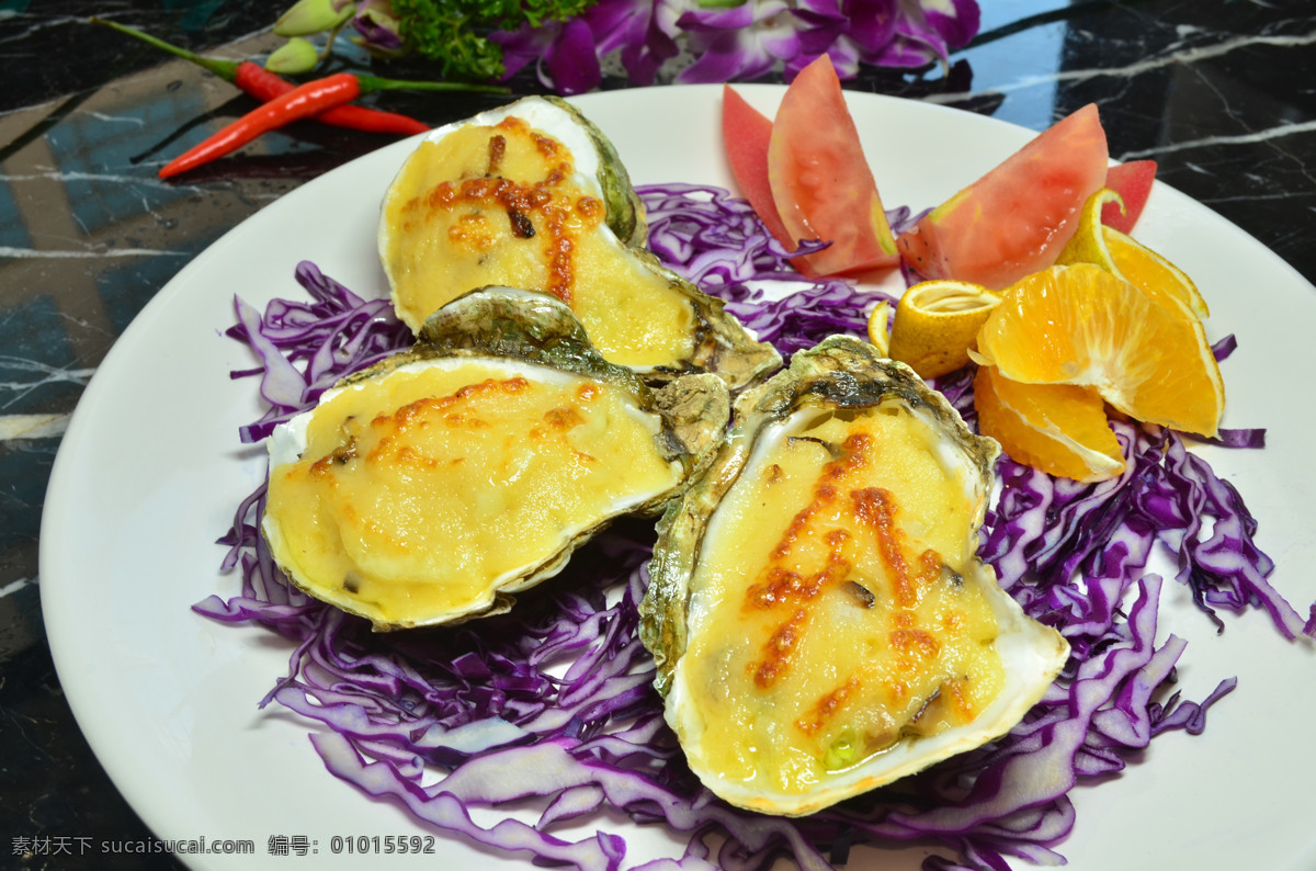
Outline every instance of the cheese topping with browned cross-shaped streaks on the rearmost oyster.
<path fill-rule="evenodd" d="M 615 363 L 690 359 L 690 301 L 622 247 L 594 191 L 566 146 L 520 118 L 422 142 L 384 203 L 400 317 L 418 330 L 451 299 L 497 284 L 571 305 Z"/>

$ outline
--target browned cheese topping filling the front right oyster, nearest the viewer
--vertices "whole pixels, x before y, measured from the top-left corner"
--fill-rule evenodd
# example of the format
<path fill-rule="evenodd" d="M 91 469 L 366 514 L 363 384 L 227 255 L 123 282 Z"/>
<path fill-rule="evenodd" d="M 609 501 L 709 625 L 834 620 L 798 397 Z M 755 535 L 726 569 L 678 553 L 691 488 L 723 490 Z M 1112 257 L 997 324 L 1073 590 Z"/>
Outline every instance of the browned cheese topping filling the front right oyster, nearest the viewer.
<path fill-rule="evenodd" d="M 967 470 L 898 408 L 761 434 L 707 530 L 682 668 L 701 764 L 728 780 L 805 792 L 1004 684 L 996 618 L 959 578 Z"/>

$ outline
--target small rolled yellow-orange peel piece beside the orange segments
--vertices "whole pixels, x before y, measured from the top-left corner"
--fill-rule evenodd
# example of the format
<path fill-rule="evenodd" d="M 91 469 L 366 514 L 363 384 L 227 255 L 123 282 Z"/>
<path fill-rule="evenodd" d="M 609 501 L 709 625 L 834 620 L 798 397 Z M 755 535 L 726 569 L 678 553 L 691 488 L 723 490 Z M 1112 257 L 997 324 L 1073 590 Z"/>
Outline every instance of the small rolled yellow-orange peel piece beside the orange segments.
<path fill-rule="evenodd" d="M 1000 296 L 982 284 L 934 279 L 909 287 L 896 304 L 890 357 L 921 378 L 969 363 L 969 349 Z"/>

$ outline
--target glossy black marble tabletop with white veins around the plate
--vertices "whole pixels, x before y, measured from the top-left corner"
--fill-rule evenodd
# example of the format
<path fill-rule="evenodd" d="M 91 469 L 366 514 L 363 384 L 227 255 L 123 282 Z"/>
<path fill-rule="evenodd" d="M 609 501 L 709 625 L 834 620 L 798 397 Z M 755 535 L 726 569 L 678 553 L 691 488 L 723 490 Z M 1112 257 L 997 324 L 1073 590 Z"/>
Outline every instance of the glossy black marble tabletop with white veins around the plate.
<path fill-rule="evenodd" d="M 1032 129 L 1096 103 L 1113 158 L 1155 159 L 1161 180 L 1316 280 L 1316 8 L 982 5 L 982 34 L 953 55 L 949 75 L 867 70 L 848 87 Z M 92 13 L 221 57 L 272 45 L 274 13 L 254 0 L 0 3 L 0 867 L 29 870 L 179 867 L 164 855 L 68 855 L 71 838 L 150 837 L 74 721 L 42 626 L 39 522 L 68 416 L 116 337 L 197 253 L 379 145 L 299 125 L 163 183 L 155 170 L 178 139 L 251 104 L 215 76 L 87 24 Z M 387 103 L 438 124 L 503 100 Z"/>

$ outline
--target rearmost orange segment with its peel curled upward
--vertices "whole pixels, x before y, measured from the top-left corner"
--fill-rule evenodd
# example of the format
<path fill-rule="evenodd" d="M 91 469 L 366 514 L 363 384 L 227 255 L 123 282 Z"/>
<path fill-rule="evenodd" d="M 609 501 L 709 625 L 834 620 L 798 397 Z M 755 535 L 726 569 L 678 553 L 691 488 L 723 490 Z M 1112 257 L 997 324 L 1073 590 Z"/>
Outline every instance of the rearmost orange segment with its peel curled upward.
<path fill-rule="evenodd" d="M 1211 317 L 1207 300 L 1183 270 L 1133 237 L 1101 224 L 1101 208 L 1112 201 L 1121 200 L 1109 188 L 1101 188 L 1087 199 L 1079 214 L 1078 230 L 1061 250 L 1055 263 L 1096 263 L 1132 282 L 1158 301 L 1177 300 L 1198 317 Z"/>

